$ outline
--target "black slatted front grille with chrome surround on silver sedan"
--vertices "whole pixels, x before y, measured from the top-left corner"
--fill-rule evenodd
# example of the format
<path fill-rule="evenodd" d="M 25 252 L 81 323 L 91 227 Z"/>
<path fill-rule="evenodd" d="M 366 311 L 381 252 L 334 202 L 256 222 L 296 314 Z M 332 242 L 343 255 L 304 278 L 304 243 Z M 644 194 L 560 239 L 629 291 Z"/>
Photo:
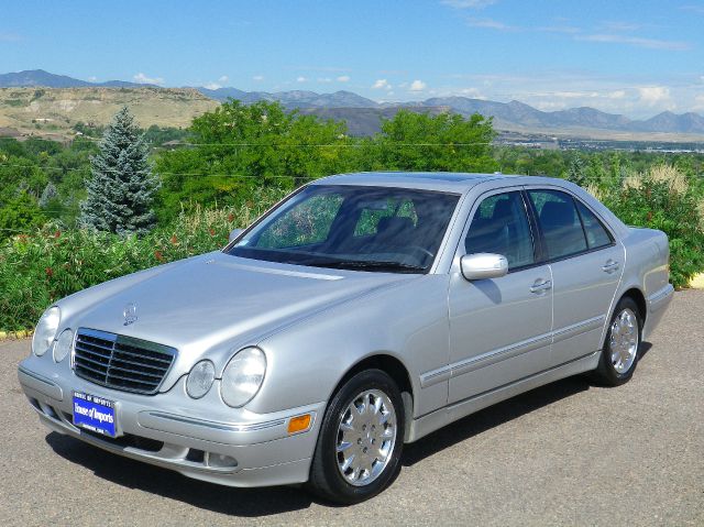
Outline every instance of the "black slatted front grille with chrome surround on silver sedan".
<path fill-rule="evenodd" d="M 74 345 L 76 375 L 101 386 L 155 394 L 176 350 L 146 340 L 80 328 Z"/>

